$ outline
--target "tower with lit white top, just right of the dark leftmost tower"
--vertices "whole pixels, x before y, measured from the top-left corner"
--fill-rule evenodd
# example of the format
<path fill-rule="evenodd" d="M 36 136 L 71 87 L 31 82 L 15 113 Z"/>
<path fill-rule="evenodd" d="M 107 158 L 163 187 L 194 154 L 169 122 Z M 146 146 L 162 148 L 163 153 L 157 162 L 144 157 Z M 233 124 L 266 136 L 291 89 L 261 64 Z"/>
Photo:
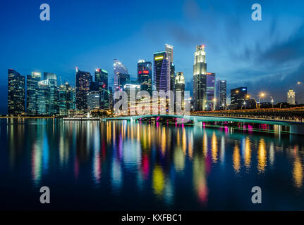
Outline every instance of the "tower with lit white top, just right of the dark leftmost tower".
<path fill-rule="evenodd" d="M 38 82 L 41 72 L 32 72 L 26 79 L 26 112 L 28 115 L 37 115 Z"/>

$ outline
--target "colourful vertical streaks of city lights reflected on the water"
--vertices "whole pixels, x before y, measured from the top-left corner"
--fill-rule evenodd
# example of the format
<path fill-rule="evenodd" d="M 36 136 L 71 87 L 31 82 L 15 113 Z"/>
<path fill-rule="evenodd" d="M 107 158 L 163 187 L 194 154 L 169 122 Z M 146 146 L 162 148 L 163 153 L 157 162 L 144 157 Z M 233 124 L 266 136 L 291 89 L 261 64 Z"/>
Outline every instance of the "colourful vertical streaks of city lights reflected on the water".
<path fill-rule="evenodd" d="M 304 144 L 284 136 L 126 121 L 6 120 L 6 131 L 9 166 L 30 168 L 33 186 L 59 176 L 110 190 L 112 197 L 141 193 L 172 206 L 182 195 L 200 207 L 212 202 L 212 191 L 229 194 L 217 192 L 219 186 L 241 177 L 272 172 L 297 190 L 303 187 Z M 290 163 L 289 173 L 278 169 Z"/>

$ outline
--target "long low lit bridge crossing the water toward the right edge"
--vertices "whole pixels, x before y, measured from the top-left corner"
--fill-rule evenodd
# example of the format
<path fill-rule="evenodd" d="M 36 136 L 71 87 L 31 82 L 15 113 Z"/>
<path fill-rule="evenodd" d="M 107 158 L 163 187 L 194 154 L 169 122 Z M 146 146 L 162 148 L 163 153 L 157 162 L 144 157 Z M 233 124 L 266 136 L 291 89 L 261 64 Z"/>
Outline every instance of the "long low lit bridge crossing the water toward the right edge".
<path fill-rule="evenodd" d="M 192 121 L 194 125 L 201 125 L 202 122 L 243 122 L 243 123 L 254 123 L 254 124 L 270 124 L 270 125 L 281 125 L 289 127 L 290 134 L 304 135 L 304 120 L 298 119 L 285 119 L 281 117 L 267 117 L 265 115 L 176 115 L 176 114 L 163 114 L 163 115 L 134 115 L 134 116 L 122 116 L 122 117 L 107 117 L 103 121 L 109 120 L 128 120 L 136 121 L 140 119 L 154 118 L 159 120 L 160 118 L 176 118 L 180 119 L 181 122 Z"/>

